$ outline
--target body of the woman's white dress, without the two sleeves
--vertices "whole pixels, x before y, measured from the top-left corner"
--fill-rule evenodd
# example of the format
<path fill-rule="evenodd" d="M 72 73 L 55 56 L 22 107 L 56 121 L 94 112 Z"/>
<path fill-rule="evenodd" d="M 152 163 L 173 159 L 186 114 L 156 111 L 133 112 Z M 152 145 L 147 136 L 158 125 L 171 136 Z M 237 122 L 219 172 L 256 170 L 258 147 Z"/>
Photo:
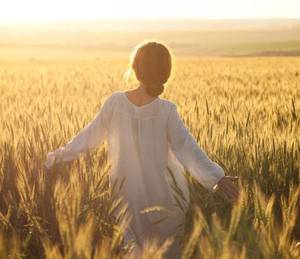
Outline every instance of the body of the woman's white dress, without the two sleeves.
<path fill-rule="evenodd" d="M 125 179 L 119 195 L 133 216 L 134 234 L 141 240 L 151 236 L 164 240 L 184 219 L 184 212 L 173 197 L 168 163 L 175 169 L 174 176 L 185 190 L 186 199 L 189 198 L 182 167 L 169 153 L 168 116 L 174 104 L 157 98 L 138 107 L 125 92 L 116 92 L 111 98 L 113 109 L 107 116 L 111 183 Z M 162 211 L 141 213 L 155 206 Z M 166 217 L 169 219 L 159 223 Z"/>

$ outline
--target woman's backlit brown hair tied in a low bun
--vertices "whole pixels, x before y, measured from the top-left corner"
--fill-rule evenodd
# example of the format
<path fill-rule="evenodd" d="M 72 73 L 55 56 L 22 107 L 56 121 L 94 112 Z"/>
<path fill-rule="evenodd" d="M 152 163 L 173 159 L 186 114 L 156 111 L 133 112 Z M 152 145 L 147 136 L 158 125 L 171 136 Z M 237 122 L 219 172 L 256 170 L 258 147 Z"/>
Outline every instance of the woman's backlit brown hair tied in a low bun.
<path fill-rule="evenodd" d="M 162 42 L 143 41 L 131 54 L 129 68 L 125 73 L 129 79 L 132 70 L 135 76 L 151 96 L 158 96 L 164 91 L 164 84 L 171 75 L 172 54 Z"/>

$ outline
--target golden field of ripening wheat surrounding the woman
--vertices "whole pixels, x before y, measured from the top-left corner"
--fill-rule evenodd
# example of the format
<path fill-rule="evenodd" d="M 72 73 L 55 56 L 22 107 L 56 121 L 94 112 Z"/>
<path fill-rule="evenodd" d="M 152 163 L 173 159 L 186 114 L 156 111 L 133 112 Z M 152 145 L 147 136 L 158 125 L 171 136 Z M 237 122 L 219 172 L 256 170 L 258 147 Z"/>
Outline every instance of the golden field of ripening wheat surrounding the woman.
<path fill-rule="evenodd" d="M 102 98 L 137 86 L 126 59 L 0 63 L 0 258 L 127 258 L 107 143 L 46 172 Z M 161 98 L 226 174 L 238 175 L 231 206 L 188 175 L 192 204 L 183 258 L 299 258 L 300 58 L 175 60 Z M 155 240 L 144 258 L 170 244 Z"/>

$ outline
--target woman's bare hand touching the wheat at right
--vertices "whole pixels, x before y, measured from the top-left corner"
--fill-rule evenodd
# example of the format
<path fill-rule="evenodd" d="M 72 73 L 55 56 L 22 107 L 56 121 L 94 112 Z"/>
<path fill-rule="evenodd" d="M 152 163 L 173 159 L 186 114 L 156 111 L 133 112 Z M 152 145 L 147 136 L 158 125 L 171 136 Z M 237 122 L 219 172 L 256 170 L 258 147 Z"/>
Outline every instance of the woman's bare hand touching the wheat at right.
<path fill-rule="evenodd" d="M 234 185 L 233 181 L 238 179 L 238 176 L 223 176 L 214 189 L 220 189 L 224 193 L 225 198 L 234 203 L 239 197 L 239 189 Z"/>

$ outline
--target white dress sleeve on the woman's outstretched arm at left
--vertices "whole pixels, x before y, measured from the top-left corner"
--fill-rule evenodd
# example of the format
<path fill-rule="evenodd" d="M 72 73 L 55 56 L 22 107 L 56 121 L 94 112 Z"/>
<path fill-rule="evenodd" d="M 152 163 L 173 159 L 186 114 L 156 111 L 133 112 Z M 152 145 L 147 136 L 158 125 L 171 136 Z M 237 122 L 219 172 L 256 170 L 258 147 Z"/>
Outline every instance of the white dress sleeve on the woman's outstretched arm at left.
<path fill-rule="evenodd" d="M 77 159 L 81 153 L 99 146 L 107 137 L 108 118 L 110 117 L 112 106 L 112 96 L 110 96 L 105 99 L 103 106 L 93 120 L 75 137 L 65 146 L 47 154 L 45 166 L 50 168 L 55 163 Z"/>

